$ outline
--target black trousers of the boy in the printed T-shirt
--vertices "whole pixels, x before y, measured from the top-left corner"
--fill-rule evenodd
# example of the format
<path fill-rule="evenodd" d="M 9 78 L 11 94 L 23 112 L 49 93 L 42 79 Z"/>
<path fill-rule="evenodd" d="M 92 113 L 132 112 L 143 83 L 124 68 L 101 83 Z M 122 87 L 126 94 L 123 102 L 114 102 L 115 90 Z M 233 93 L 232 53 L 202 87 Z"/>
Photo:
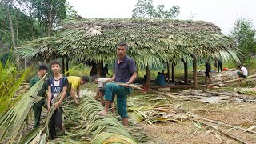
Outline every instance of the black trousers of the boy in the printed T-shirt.
<path fill-rule="evenodd" d="M 59 107 L 54 111 L 53 116 L 50 118 L 49 127 L 50 127 L 51 138 L 56 137 L 56 126 L 58 126 L 59 128 L 62 127 L 62 114 L 63 114 L 63 109 L 62 107 Z"/>

